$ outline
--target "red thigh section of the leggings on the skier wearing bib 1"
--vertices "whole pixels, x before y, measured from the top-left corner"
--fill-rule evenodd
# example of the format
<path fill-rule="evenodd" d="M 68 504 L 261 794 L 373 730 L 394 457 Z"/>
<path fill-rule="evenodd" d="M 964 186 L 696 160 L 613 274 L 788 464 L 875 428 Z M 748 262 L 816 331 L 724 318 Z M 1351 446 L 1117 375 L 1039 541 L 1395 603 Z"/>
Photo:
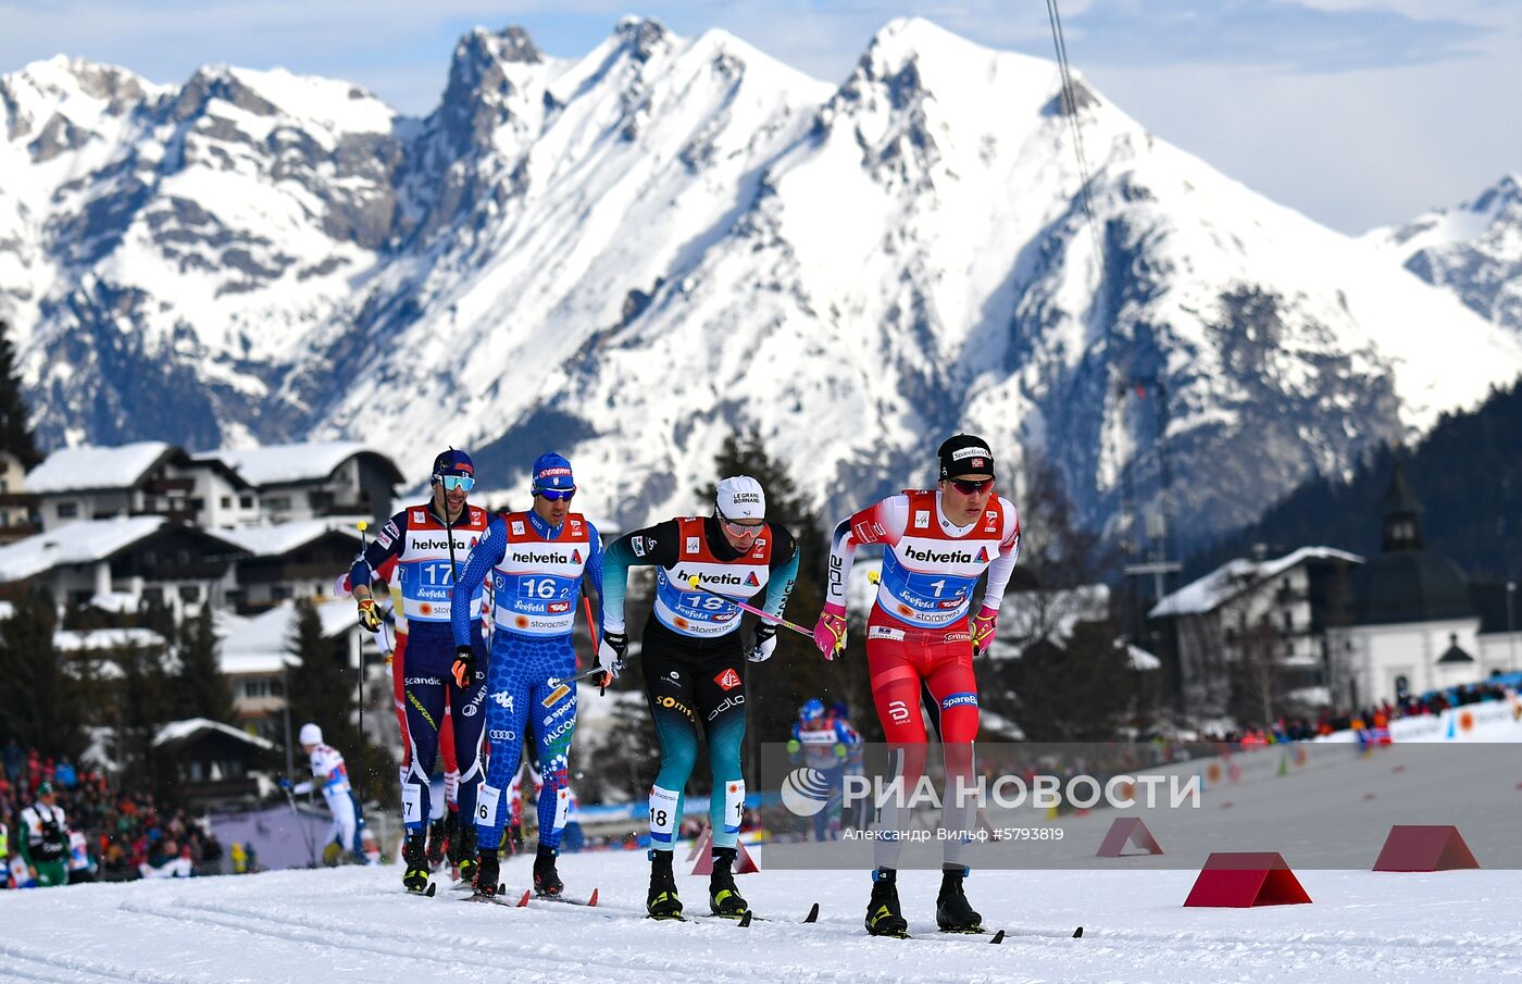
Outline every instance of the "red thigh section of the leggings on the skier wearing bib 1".
<path fill-rule="evenodd" d="M 925 766 L 922 698 L 945 746 L 947 772 L 966 775 L 977 737 L 977 678 L 966 620 L 941 629 L 910 629 L 874 608 L 866 664 L 883 736 L 904 751 L 906 781 L 918 781 Z"/>

